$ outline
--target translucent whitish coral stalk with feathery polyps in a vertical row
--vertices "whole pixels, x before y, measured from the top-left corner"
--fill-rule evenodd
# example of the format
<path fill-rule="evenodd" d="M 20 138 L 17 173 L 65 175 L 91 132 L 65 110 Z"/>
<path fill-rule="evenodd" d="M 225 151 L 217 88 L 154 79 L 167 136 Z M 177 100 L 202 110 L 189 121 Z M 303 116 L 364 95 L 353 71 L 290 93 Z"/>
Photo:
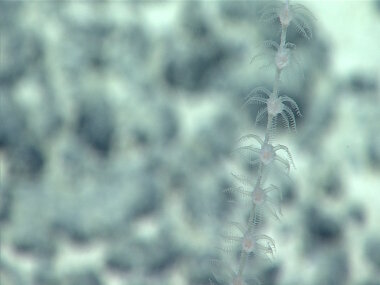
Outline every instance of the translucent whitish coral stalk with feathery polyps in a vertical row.
<path fill-rule="evenodd" d="M 268 177 L 277 165 L 277 169 L 285 169 L 289 175 L 291 166 L 295 169 L 293 157 L 287 146 L 274 144 L 274 133 L 279 120 L 282 124 L 296 131 L 296 116 L 301 116 L 296 101 L 281 92 L 280 85 L 286 84 L 281 79 L 283 71 L 292 64 L 297 64 L 295 57 L 295 44 L 287 42 L 286 34 L 288 28 L 295 28 L 297 32 L 306 39 L 311 39 L 311 21 L 314 19 L 312 13 L 300 4 L 289 4 L 274 2 L 267 5 L 262 11 L 260 20 L 264 23 L 278 22 L 281 27 L 280 42 L 274 40 L 264 41 L 263 47 L 271 51 L 271 65 L 275 68 L 273 87 L 271 90 L 265 87 L 254 88 L 246 97 L 243 105 L 257 104 L 261 108 L 256 116 L 256 124 L 266 117 L 266 130 L 263 137 L 250 133 L 240 138 L 235 151 L 248 156 L 248 163 L 255 168 L 255 172 L 248 177 L 232 174 L 237 186 L 230 187 L 226 192 L 232 196 L 240 196 L 249 201 L 249 216 L 245 225 L 239 222 L 229 224 L 235 230 L 224 234 L 222 237 L 226 246 L 223 252 L 230 253 L 237 249 L 239 261 L 236 266 L 226 265 L 222 260 L 214 260 L 217 265 L 213 272 L 218 284 L 261 284 L 257 276 L 252 276 L 252 268 L 248 261 L 254 256 L 258 260 L 272 260 L 275 253 L 275 241 L 269 235 L 263 233 L 261 228 L 263 216 L 269 215 L 280 219 L 282 215 L 281 188 L 270 183 Z M 258 55 L 261 56 L 261 55 Z M 237 195 L 236 195 L 237 194 Z M 236 251 L 235 251 L 236 252 Z M 235 267 L 235 268 L 234 268 Z M 210 283 L 215 284 L 210 280 Z"/>

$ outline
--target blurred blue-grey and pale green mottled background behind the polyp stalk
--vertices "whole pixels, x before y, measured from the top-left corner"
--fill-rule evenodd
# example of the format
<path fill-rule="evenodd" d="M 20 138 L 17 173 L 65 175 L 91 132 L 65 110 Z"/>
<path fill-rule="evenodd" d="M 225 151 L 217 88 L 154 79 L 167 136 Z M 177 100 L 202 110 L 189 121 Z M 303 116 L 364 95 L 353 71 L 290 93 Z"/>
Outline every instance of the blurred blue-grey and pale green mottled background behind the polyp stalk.
<path fill-rule="evenodd" d="M 380 1 L 304 2 L 311 41 L 281 90 L 297 170 L 267 219 L 265 285 L 380 284 Z M 263 2 L 0 2 L 0 283 L 206 285 L 226 222 L 241 108 L 273 68 Z M 239 212 L 240 211 L 240 212 Z M 239 214 L 236 214 L 239 212 Z M 233 256 L 232 256 L 233 258 Z"/>

